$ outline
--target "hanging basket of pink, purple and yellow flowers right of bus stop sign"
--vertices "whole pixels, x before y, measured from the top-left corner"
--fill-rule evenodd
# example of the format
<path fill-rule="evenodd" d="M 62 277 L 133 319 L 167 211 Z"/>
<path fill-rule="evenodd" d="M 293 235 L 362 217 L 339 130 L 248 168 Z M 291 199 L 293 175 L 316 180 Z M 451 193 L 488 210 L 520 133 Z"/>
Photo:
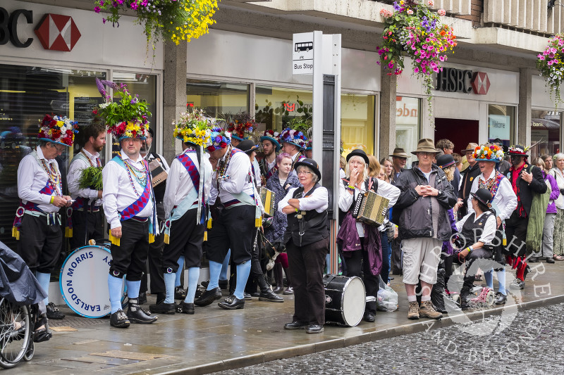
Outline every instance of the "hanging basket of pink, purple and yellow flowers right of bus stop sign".
<path fill-rule="evenodd" d="M 443 25 L 439 17 L 446 11 L 439 9 L 435 12 L 429 8 L 433 5 L 433 0 L 428 0 L 427 4 L 402 0 L 393 3 L 393 12 L 382 9 L 380 14 L 387 26 L 382 34 L 384 44 L 376 47 L 380 55 L 378 64 L 388 71 L 388 75 L 401 75 L 405 68 L 404 57 L 412 59 L 413 74 L 424 82 L 430 116 L 431 89 L 434 89 L 432 75 L 443 69 L 441 63 L 446 61 L 446 53 L 456 46 L 453 28 Z"/>

